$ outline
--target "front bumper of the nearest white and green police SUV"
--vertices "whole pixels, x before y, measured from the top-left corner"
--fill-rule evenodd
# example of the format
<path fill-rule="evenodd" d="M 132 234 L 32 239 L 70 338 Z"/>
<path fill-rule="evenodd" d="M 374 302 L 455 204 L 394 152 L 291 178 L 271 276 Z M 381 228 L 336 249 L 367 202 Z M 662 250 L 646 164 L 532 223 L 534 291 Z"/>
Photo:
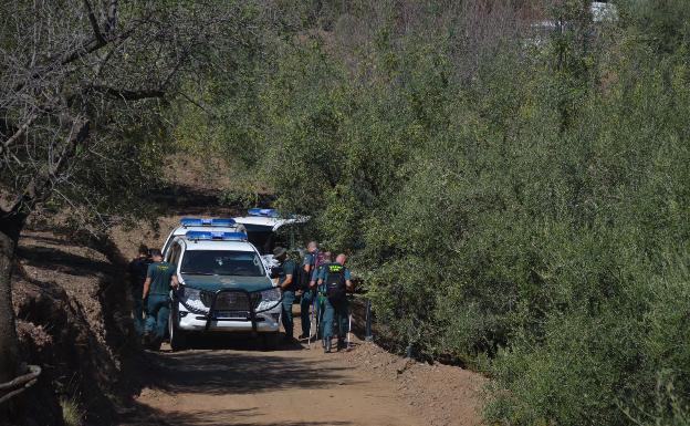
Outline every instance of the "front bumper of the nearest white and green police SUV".
<path fill-rule="evenodd" d="M 172 309 L 177 328 L 187 332 L 224 332 L 224 333 L 276 333 L 280 329 L 281 303 L 275 308 L 254 312 L 253 304 L 249 304 L 249 311 L 238 314 L 236 311 L 222 311 L 216 309 L 216 301 L 222 293 L 242 293 L 250 299 L 250 294 L 238 290 L 219 290 L 215 293 L 211 308 L 208 313 L 194 312 L 177 298 L 172 297 Z"/>

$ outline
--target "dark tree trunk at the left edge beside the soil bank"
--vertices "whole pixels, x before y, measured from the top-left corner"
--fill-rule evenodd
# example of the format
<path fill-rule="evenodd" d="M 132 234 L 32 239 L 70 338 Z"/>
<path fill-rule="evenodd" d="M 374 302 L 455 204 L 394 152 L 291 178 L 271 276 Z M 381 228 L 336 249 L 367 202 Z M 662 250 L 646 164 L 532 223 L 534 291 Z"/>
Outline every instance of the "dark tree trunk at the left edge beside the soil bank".
<path fill-rule="evenodd" d="M 19 339 L 12 306 L 12 262 L 23 220 L 0 217 L 0 383 L 19 373 Z"/>

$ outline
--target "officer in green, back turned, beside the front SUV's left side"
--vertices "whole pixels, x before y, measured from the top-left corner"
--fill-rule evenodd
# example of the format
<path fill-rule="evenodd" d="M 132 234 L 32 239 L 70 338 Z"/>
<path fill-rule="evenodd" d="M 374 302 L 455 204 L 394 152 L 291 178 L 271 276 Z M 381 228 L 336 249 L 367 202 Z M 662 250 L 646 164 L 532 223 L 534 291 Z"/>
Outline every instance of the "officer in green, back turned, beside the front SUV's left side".
<path fill-rule="evenodd" d="M 142 294 L 142 300 L 146 300 L 148 297 L 145 335 L 150 336 L 154 333 L 155 342 L 159 344 L 168 326 L 170 287 L 177 289 L 179 282 L 177 281 L 177 268 L 163 261 L 160 250 L 151 250 L 150 254 L 154 262 L 148 266 Z"/>

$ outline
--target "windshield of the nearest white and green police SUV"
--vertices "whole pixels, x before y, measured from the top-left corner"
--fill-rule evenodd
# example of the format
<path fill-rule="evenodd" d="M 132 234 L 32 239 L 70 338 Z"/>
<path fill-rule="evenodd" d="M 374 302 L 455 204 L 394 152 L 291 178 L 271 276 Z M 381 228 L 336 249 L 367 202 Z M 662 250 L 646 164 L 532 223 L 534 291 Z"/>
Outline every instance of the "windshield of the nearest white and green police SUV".
<path fill-rule="evenodd" d="M 180 272 L 192 276 L 263 277 L 261 258 L 253 251 L 189 250 Z"/>

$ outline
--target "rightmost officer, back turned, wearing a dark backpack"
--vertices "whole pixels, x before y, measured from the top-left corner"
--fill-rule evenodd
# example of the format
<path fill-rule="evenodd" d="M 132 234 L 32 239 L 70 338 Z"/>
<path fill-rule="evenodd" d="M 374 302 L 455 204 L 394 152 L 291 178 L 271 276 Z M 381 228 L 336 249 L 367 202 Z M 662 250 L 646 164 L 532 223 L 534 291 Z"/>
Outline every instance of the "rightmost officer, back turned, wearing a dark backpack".
<path fill-rule="evenodd" d="M 345 268 L 346 261 L 347 257 L 345 254 L 338 254 L 335 259 L 335 263 L 326 264 L 318 278 L 318 285 L 326 287 L 322 329 L 324 352 L 326 353 L 331 352 L 334 321 L 337 325 L 337 350 L 339 351 L 345 347 L 345 335 L 348 332 L 347 315 L 349 312 L 346 292 L 353 291 L 351 273 L 349 270 Z"/>

